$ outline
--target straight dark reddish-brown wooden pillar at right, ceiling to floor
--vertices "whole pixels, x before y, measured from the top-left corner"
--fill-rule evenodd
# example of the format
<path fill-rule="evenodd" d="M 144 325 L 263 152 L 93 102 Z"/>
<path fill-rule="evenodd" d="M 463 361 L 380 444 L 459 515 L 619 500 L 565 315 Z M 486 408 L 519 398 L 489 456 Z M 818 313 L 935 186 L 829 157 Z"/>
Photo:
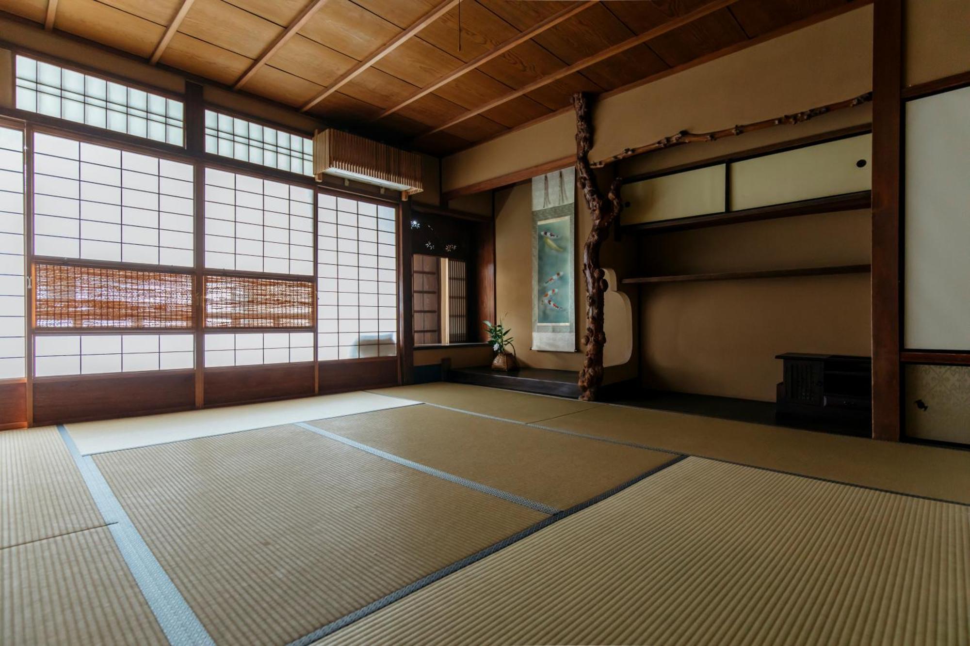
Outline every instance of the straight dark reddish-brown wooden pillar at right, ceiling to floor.
<path fill-rule="evenodd" d="M 872 436 L 898 441 L 902 0 L 875 0 L 872 73 Z"/>

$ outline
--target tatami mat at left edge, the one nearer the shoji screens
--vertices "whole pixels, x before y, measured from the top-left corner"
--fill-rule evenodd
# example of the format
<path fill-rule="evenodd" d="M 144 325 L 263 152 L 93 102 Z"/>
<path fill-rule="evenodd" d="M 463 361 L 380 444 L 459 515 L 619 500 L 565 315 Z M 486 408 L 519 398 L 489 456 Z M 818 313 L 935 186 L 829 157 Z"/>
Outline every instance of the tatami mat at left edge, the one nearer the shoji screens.
<path fill-rule="evenodd" d="M 0 548 L 104 524 L 57 429 L 0 433 Z"/>

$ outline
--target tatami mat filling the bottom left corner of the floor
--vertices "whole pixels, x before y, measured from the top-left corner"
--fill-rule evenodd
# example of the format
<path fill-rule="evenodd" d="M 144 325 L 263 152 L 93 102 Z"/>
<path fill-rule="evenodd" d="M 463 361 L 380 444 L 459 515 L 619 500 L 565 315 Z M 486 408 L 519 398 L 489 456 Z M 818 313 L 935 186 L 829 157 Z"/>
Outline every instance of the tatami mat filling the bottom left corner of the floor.
<path fill-rule="evenodd" d="M 0 644 L 167 644 L 107 527 L 0 550 Z"/>

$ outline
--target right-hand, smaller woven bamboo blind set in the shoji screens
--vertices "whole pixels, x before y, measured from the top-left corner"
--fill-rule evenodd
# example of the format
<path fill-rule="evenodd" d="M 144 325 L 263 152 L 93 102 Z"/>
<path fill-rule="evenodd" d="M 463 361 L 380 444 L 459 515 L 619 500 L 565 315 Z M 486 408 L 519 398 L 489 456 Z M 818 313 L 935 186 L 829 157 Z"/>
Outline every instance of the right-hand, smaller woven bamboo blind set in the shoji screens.
<path fill-rule="evenodd" d="M 313 327 L 313 282 L 206 276 L 207 328 Z"/>

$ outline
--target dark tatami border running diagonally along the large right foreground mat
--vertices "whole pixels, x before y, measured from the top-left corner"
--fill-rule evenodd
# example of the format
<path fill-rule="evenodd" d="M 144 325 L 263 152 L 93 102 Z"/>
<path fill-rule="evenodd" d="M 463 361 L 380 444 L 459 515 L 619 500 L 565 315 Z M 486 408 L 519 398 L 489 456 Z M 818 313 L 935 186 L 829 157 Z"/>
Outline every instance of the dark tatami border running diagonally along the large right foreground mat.
<path fill-rule="evenodd" d="M 495 554 L 501 549 L 504 549 L 505 547 L 508 547 L 509 545 L 512 545 L 513 543 L 516 543 L 522 540 L 523 538 L 531 536 L 533 533 L 536 533 L 539 530 L 549 527 L 553 523 L 561 521 L 564 518 L 571 516 L 572 514 L 578 511 L 582 511 L 583 509 L 593 504 L 596 504 L 599 501 L 603 501 L 611 496 L 614 496 L 620 493 L 621 491 L 623 491 L 624 489 L 627 489 L 628 487 L 633 486 L 637 482 L 640 482 L 641 480 L 648 478 L 659 471 L 662 471 L 664 468 L 672 467 L 673 465 L 676 465 L 677 463 L 687 459 L 688 457 L 690 456 L 678 455 L 673 460 L 669 460 L 663 463 L 663 465 L 660 465 L 658 467 L 651 468 L 649 471 L 641 473 L 640 475 L 637 475 L 635 478 L 627 482 L 624 482 L 621 485 L 613 487 L 612 489 L 605 491 L 602 494 L 599 494 L 598 496 L 595 496 L 594 498 L 591 498 L 588 501 L 579 502 L 578 504 L 574 504 L 568 509 L 564 509 L 563 511 L 557 512 L 552 516 L 549 516 L 548 518 L 543 518 L 538 523 L 535 523 L 534 525 L 527 527 L 525 530 L 522 530 L 521 532 L 518 532 L 518 533 L 513 533 L 512 535 L 506 538 L 503 538 L 499 542 L 465 557 L 461 561 L 456 561 L 451 565 L 445 565 L 441 569 L 438 569 L 435 572 L 428 574 L 427 576 L 423 576 L 422 578 L 418 579 L 417 581 L 414 581 L 413 583 L 409 583 L 408 585 L 404 586 L 404 588 L 400 588 L 395 592 L 391 593 L 390 595 L 387 595 L 386 597 L 382 597 L 377 599 L 376 601 L 372 601 L 371 603 L 365 605 L 363 608 L 360 608 L 349 614 L 346 614 L 343 617 L 340 617 L 339 619 L 331 622 L 330 624 L 327 624 L 326 626 L 323 626 L 317 630 L 310 632 L 309 634 L 301 637 L 300 639 L 291 641 L 289 644 L 287 644 L 287 646 L 308 646 L 314 641 L 317 641 L 318 639 L 322 639 L 323 637 L 326 637 L 327 635 L 332 634 L 337 630 L 345 628 L 353 624 L 354 622 L 360 621 L 361 619 L 364 619 L 365 617 L 367 617 L 368 615 L 371 615 L 377 610 L 380 610 L 381 608 L 384 608 L 390 605 L 391 603 L 394 603 L 395 601 L 401 600 L 402 598 L 407 597 L 408 595 L 415 593 L 421 590 L 422 588 L 425 588 L 431 585 L 432 583 L 435 583 L 436 581 L 444 578 L 449 574 L 453 574 L 464 567 L 468 567 L 469 565 L 472 565 L 478 561 L 481 561 L 485 557 Z"/>

